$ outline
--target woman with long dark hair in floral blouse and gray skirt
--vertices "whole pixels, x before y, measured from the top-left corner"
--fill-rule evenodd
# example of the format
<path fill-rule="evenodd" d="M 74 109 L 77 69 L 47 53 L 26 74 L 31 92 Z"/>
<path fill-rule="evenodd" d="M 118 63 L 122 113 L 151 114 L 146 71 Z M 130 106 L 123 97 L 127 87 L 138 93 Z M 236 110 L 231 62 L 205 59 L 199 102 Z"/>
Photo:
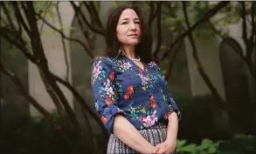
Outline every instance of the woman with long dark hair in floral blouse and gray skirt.
<path fill-rule="evenodd" d="M 112 12 L 106 44 L 93 62 L 92 88 L 110 133 L 107 153 L 173 153 L 181 113 L 151 57 L 152 38 L 138 9 Z"/>

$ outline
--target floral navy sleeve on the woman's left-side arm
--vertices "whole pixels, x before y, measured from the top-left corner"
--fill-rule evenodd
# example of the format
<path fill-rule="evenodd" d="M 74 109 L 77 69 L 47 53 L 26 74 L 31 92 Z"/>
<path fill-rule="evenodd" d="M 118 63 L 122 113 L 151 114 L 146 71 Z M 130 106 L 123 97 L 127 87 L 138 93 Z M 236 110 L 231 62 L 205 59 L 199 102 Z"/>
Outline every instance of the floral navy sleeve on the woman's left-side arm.
<path fill-rule="evenodd" d="M 117 107 L 119 87 L 115 84 L 114 70 L 107 57 L 97 57 L 93 62 L 91 86 L 95 109 L 109 133 L 113 133 L 114 117 L 123 114 Z"/>

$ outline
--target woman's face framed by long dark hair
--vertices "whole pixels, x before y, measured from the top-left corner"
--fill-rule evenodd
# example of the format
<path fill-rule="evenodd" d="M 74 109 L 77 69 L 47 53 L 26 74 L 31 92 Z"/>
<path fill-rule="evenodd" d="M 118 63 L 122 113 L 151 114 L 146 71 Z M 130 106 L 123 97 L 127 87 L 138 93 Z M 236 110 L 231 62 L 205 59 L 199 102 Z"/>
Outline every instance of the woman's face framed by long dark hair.
<path fill-rule="evenodd" d="M 123 45 L 135 46 L 140 43 L 140 20 L 135 10 L 123 10 L 116 26 L 116 36 Z"/>

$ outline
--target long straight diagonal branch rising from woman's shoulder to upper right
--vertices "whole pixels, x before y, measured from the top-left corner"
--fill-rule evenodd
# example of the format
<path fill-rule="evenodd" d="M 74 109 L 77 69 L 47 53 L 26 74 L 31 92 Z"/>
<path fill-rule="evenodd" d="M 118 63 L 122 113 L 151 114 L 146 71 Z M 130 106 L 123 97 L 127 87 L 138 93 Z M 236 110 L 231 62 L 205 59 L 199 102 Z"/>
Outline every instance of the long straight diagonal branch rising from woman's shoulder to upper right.
<path fill-rule="evenodd" d="M 184 31 L 182 35 L 180 35 L 172 44 L 170 44 L 168 49 L 165 50 L 165 52 L 163 53 L 163 57 L 160 57 L 156 61 L 162 61 L 165 57 L 168 57 L 170 50 L 172 50 L 174 48 L 175 44 L 177 44 L 181 39 L 186 37 L 191 31 L 195 30 L 200 23 L 204 23 L 206 20 L 208 20 L 209 18 L 216 15 L 218 13 L 218 11 L 221 10 L 222 8 L 224 8 L 228 3 L 230 3 L 230 2 L 229 1 L 220 2 L 220 3 L 218 3 L 217 6 L 215 6 L 214 8 L 209 10 L 208 12 L 206 12 L 204 14 L 204 17 L 202 17 L 199 21 L 197 21 L 197 23 L 192 25 L 190 27 L 190 29 Z"/>

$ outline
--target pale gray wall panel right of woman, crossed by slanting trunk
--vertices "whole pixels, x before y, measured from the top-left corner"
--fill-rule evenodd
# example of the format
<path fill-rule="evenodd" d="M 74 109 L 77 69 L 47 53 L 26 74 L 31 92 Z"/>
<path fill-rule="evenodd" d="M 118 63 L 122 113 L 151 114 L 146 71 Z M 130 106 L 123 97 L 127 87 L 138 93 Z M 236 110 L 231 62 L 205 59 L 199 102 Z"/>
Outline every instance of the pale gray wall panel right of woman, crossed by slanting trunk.
<path fill-rule="evenodd" d="M 215 37 L 200 38 L 195 37 L 197 45 L 197 55 L 203 65 L 205 73 L 210 77 L 212 84 L 218 90 L 221 97 L 225 98 L 222 73 L 218 56 L 218 42 Z M 192 47 L 188 38 L 186 38 L 186 52 L 190 70 L 190 83 L 193 96 L 210 94 L 208 86 L 204 83 L 203 78 L 197 70 L 197 64 L 192 56 Z"/>

